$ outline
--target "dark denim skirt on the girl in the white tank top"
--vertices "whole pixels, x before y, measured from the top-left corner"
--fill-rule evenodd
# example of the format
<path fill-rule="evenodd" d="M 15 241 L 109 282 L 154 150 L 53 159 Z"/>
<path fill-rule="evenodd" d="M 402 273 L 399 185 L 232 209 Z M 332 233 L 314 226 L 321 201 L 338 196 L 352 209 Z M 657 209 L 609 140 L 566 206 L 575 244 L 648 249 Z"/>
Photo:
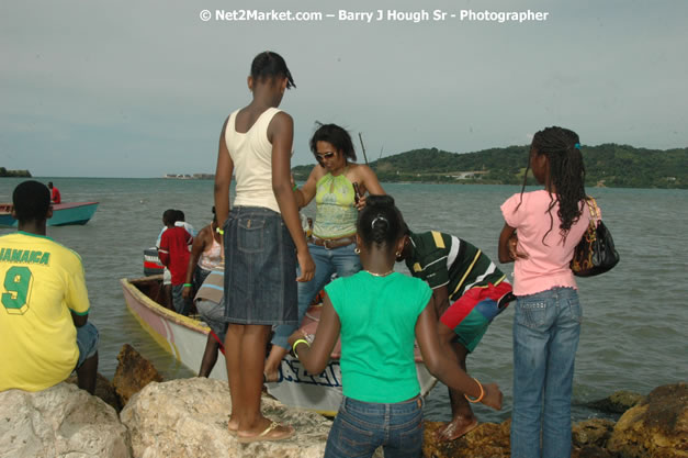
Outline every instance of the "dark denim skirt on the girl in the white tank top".
<path fill-rule="evenodd" d="M 224 227 L 225 321 L 296 325 L 296 246 L 282 215 L 235 206 Z"/>

